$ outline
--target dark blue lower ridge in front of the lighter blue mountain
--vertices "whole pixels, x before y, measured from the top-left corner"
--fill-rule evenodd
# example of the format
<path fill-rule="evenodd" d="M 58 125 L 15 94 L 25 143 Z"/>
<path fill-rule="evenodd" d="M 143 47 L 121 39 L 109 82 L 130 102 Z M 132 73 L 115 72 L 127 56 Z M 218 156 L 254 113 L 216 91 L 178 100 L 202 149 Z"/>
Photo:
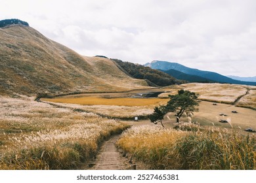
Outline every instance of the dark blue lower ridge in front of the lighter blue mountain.
<path fill-rule="evenodd" d="M 160 70 L 163 71 L 163 70 Z M 173 76 L 179 80 L 187 80 L 188 82 L 216 82 L 214 80 L 209 80 L 207 78 L 203 78 L 200 76 L 196 76 L 196 75 L 188 75 L 185 73 L 182 73 L 180 71 L 174 70 L 174 69 L 170 69 L 168 71 L 163 71 L 164 73 L 167 73 L 170 76 Z"/>

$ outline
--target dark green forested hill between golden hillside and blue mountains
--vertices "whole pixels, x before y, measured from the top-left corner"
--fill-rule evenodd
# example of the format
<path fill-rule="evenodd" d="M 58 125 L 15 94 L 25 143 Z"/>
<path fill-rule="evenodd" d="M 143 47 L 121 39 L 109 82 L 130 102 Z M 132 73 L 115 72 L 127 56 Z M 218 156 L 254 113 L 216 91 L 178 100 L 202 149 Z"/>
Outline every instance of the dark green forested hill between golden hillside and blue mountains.
<path fill-rule="evenodd" d="M 144 79 L 150 86 L 169 86 L 172 84 L 185 83 L 182 80 L 177 80 L 177 78 L 174 78 L 173 76 L 169 76 L 156 69 L 151 69 L 150 67 L 121 61 L 119 59 L 112 59 L 112 61 L 119 65 L 118 67 L 121 67 L 123 72 L 127 73 L 127 75 L 133 76 L 134 78 Z"/>

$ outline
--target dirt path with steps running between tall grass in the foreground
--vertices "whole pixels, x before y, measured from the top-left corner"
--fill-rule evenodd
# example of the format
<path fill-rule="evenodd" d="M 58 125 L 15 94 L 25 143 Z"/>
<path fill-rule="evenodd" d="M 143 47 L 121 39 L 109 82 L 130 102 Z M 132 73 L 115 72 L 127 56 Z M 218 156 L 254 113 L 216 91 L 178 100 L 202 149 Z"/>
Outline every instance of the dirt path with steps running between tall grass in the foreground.
<path fill-rule="evenodd" d="M 97 156 L 93 170 L 123 170 L 129 169 L 131 165 L 127 163 L 127 158 L 121 157 L 116 148 L 116 141 L 119 135 L 112 136 L 108 141 L 102 144 Z"/>

